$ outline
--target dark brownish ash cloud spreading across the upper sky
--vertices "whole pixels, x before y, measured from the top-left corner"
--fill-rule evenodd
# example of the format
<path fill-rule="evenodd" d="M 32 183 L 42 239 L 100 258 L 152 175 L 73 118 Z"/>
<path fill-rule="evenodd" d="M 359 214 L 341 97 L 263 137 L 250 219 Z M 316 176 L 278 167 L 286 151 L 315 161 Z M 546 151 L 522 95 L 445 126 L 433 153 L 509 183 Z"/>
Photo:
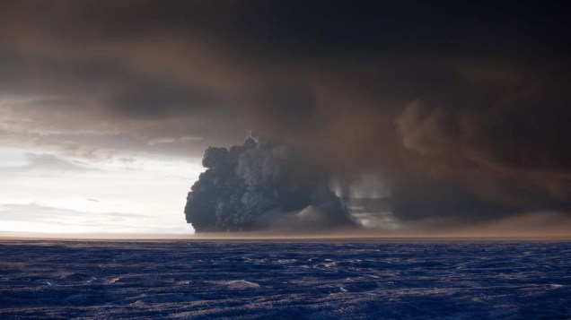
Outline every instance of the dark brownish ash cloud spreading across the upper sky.
<path fill-rule="evenodd" d="M 71 101 L 12 109 L 19 134 L 196 156 L 254 128 L 374 172 L 403 220 L 569 210 L 563 1 L 1 5 L 3 97 Z"/>

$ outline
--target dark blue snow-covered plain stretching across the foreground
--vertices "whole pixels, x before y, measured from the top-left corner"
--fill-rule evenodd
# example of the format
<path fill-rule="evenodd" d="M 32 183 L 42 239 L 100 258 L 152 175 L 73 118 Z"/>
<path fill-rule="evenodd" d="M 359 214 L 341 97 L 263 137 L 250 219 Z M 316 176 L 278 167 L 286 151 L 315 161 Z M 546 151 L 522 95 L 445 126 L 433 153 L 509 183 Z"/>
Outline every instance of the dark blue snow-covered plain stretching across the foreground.
<path fill-rule="evenodd" d="M 569 318 L 571 243 L 0 242 L 0 318 Z"/>

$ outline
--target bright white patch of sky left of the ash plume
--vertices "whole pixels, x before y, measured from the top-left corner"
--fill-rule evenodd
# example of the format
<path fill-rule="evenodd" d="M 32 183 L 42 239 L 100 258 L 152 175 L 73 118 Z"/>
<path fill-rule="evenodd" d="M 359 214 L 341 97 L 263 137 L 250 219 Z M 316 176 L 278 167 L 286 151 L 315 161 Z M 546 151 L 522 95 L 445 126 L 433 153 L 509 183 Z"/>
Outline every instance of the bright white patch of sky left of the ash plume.
<path fill-rule="evenodd" d="M 186 195 L 199 160 L 116 152 L 76 159 L 0 148 L 0 233 L 192 233 Z"/>

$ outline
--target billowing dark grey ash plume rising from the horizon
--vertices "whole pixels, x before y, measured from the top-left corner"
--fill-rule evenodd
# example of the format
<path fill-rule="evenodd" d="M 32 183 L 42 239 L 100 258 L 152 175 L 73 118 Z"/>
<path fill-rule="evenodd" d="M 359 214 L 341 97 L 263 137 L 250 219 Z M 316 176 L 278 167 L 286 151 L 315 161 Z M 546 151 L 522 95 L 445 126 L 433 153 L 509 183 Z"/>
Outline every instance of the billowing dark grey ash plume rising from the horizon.
<path fill-rule="evenodd" d="M 284 145 L 248 137 L 229 149 L 209 147 L 202 164 L 206 171 L 185 207 L 197 232 L 309 232 L 354 224 L 327 180 L 298 170 Z"/>

